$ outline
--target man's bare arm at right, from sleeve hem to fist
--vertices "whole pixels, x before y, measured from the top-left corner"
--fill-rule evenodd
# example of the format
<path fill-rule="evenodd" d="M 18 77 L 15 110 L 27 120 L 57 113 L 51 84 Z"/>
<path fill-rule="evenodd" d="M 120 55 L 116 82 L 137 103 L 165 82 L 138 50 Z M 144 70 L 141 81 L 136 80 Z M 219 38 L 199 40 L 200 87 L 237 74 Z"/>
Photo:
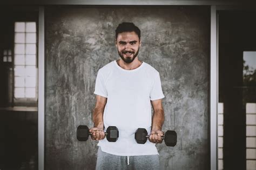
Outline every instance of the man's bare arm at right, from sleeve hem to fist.
<path fill-rule="evenodd" d="M 162 126 L 164 124 L 164 108 L 161 99 L 151 101 L 153 106 L 152 128 L 149 140 L 153 143 L 161 143 L 161 137 L 164 135 Z"/>

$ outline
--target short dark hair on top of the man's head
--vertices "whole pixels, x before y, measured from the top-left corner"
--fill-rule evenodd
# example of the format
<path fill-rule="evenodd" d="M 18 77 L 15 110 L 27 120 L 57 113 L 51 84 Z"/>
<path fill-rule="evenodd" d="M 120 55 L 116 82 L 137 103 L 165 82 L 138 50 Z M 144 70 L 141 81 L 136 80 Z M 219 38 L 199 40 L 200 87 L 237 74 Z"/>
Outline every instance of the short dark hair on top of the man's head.
<path fill-rule="evenodd" d="M 138 26 L 134 25 L 133 23 L 123 22 L 117 26 L 116 39 L 117 39 L 118 33 L 133 32 L 133 31 L 138 35 L 138 37 L 140 39 L 140 30 L 139 30 Z"/>

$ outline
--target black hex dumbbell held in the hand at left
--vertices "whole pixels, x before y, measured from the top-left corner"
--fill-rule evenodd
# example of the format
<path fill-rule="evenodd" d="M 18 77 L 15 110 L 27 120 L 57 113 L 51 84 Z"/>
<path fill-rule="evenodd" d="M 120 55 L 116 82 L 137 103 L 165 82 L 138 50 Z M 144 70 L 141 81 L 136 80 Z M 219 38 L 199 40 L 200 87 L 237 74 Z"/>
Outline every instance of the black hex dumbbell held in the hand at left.
<path fill-rule="evenodd" d="M 118 128 L 116 126 L 109 126 L 107 127 L 106 132 L 104 132 L 106 135 L 106 138 L 108 141 L 110 142 L 115 142 L 117 141 L 118 137 L 119 137 L 119 131 Z M 79 141 L 86 141 L 89 138 L 89 135 L 91 135 L 92 133 L 89 131 L 88 126 L 86 125 L 79 125 L 77 127 L 77 139 Z"/>

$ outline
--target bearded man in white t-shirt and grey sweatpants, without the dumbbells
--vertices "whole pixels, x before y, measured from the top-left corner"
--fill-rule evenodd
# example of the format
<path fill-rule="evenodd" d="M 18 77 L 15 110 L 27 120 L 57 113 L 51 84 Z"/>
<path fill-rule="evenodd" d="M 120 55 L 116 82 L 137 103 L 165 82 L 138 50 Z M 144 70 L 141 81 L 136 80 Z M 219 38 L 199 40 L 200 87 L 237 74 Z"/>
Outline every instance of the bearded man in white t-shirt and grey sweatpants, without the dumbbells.
<path fill-rule="evenodd" d="M 159 72 L 137 57 L 140 45 L 139 28 L 133 23 L 119 24 L 116 46 L 121 59 L 98 71 L 95 125 L 90 130 L 91 138 L 99 140 L 96 169 L 159 169 L 155 145 L 162 142 L 164 135 L 161 131 L 164 94 Z M 109 126 L 117 126 L 119 130 L 116 142 L 105 139 L 104 130 Z M 151 132 L 145 144 L 137 144 L 134 139 L 137 128 Z"/>

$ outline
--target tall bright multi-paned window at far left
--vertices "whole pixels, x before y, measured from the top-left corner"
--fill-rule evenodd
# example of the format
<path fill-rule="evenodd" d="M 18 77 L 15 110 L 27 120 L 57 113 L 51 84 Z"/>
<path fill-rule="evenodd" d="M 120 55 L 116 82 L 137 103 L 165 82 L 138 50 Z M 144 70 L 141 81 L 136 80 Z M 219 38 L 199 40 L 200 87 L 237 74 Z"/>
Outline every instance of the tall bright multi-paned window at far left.
<path fill-rule="evenodd" d="M 15 22 L 14 97 L 36 98 L 36 22 Z"/>

